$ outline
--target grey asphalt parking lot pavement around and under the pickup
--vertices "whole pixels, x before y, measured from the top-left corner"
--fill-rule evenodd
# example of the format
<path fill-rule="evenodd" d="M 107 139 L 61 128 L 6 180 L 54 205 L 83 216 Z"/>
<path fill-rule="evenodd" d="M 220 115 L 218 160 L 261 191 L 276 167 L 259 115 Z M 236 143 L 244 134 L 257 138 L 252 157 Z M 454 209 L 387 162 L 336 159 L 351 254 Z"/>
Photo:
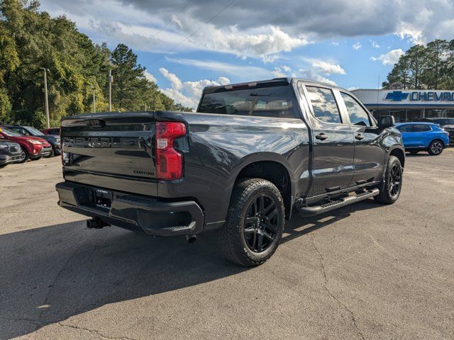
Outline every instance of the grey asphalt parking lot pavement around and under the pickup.
<path fill-rule="evenodd" d="M 258 268 L 214 234 L 91 230 L 60 159 L 0 169 L 0 339 L 454 339 L 454 149 L 406 159 L 394 205 L 288 223 Z"/>

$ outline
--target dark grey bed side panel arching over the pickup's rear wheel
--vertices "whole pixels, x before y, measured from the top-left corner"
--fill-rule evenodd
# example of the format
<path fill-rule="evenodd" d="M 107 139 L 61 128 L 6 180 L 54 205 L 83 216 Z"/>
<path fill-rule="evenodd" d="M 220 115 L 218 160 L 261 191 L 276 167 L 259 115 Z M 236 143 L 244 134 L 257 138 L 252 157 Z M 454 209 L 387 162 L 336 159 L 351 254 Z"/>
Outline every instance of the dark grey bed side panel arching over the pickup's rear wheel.
<path fill-rule="evenodd" d="M 159 182 L 158 195 L 195 198 L 206 212 L 207 223 L 225 220 L 236 176 L 248 164 L 284 165 L 293 197 L 309 182 L 309 177 L 301 178 L 309 166 L 309 134 L 300 119 L 208 113 L 157 113 L 155 118 L 182 120 L 189 127 L 187 145 L 179 144 L 184 179 Z"/>

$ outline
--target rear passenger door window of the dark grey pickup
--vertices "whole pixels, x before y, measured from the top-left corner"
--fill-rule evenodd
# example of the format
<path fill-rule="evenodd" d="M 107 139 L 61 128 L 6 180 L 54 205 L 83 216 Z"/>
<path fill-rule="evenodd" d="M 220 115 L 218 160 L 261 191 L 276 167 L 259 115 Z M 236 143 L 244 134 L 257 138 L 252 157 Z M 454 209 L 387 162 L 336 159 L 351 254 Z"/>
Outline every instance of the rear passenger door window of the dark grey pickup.
<path fill-rule="evenodd" d="M 316 118 L 325 123 L 342 123 L 333 91 L 316 86 L 306 86 L 306 90 Z"/>

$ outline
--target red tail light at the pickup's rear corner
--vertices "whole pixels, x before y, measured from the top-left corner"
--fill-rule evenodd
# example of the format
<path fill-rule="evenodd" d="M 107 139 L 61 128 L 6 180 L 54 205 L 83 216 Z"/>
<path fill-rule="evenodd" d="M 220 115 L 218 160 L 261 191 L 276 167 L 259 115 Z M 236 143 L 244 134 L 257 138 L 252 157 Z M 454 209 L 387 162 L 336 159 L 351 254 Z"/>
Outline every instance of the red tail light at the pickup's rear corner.
<path fill-rule="evenodd" d="M 176 138 L 186 135 L 186 125 L 178 122 L 157 122 L 155 135 L 157 179 L 180 179 L 183 173 L 183 157 L 174 149 L 173 144 Z"/>

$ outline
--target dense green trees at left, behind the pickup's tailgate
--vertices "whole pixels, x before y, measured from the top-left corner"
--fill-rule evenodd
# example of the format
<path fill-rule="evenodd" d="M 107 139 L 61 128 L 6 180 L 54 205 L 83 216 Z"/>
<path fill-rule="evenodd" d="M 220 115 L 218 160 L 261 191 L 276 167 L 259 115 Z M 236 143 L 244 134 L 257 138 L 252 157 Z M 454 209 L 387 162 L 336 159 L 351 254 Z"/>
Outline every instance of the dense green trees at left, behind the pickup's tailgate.
<path fill-rule="evenodd" d="M 145 68 L 125 45 L 111 53 L 94 45 L 65 16 L 51 18 L 38 1 L 0 0 L 0 123 L 26 123 L 42 128 L 43 67 L 48 72 L 50 119 L 107 111 L 109 68 L 114 72 L 114 108 L 122 111 L 171 110 L 172 99 L 145 79 Z"/>

